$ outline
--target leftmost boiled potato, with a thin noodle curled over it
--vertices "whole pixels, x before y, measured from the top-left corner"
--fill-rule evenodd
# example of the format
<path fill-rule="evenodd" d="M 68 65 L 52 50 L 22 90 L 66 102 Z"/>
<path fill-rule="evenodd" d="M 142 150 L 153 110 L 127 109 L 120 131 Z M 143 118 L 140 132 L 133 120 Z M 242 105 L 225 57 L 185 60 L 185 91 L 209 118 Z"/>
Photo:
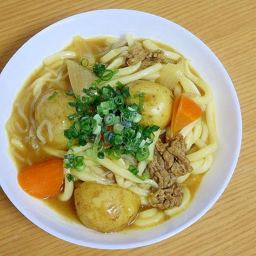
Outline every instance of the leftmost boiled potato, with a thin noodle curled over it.
<path fill-rule="evenodd" d="M 42 129 L 42 136 L 45 138 L 47 145 L 58 149 L 67 149 L 68 140 L 64 137 L 64 130 L 72 124 L 67 117 L 76 112 L 76 109 L 68 104 L 68 102 L 72 101 L 75 100 L 67 96 L 65 91 L 53 89 L 47 90 L 38 99 L 35 106 L 35 122 L 37 127 L 45 119 L 48 119 L 52 124 L 52 140 L 48 136 L 47 128 L 44 127 Z"/>

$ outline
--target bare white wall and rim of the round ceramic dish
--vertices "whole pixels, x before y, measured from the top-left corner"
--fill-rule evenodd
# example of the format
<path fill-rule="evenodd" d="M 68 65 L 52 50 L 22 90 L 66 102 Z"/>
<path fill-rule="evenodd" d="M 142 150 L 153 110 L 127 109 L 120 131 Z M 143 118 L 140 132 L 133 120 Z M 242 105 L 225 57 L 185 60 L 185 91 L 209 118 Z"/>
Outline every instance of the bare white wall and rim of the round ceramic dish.
<path fill-rule="evenodd" d="M 72 37 L 97 35 L 154 38 L 172 45 L 190 58 L 192 65 L 212 87 L 217 113 L 219 147 L 212 168 L 205 175 L 192 204 L 161 226 L 134 233 L 102 234 L 66 221 L 43 202 L 27 195 L 17 184 L 17 170 L 7 153 L 4 125 L 12 102 L 23 81 L 41 60 L 61 50 Z M 108 9 L 85 12 L 43 29 L 27 41 L 9 60 L 0 74 L 0 185 L 12 203 L 30 221 L 60 239 L 86 247 L 124 249 L 167 239 L 189 227 L 218 200 L 233 175 L 241 145 L 241 111 L 236 91 L 218 58 L 195 35 L 162 17 L 131 10 Z"/>

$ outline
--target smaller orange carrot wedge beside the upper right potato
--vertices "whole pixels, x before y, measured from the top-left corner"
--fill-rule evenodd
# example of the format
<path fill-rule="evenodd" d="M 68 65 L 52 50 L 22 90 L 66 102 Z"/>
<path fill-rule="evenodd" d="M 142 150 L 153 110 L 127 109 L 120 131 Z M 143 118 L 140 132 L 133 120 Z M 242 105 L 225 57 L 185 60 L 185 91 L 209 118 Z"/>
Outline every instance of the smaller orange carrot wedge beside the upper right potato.
<path fill-rule="evenodd" d="M 184 93 L 174 99 L 171 129 L 177 134 L 183 127 L 201 117 L 202 109 Z"/>

